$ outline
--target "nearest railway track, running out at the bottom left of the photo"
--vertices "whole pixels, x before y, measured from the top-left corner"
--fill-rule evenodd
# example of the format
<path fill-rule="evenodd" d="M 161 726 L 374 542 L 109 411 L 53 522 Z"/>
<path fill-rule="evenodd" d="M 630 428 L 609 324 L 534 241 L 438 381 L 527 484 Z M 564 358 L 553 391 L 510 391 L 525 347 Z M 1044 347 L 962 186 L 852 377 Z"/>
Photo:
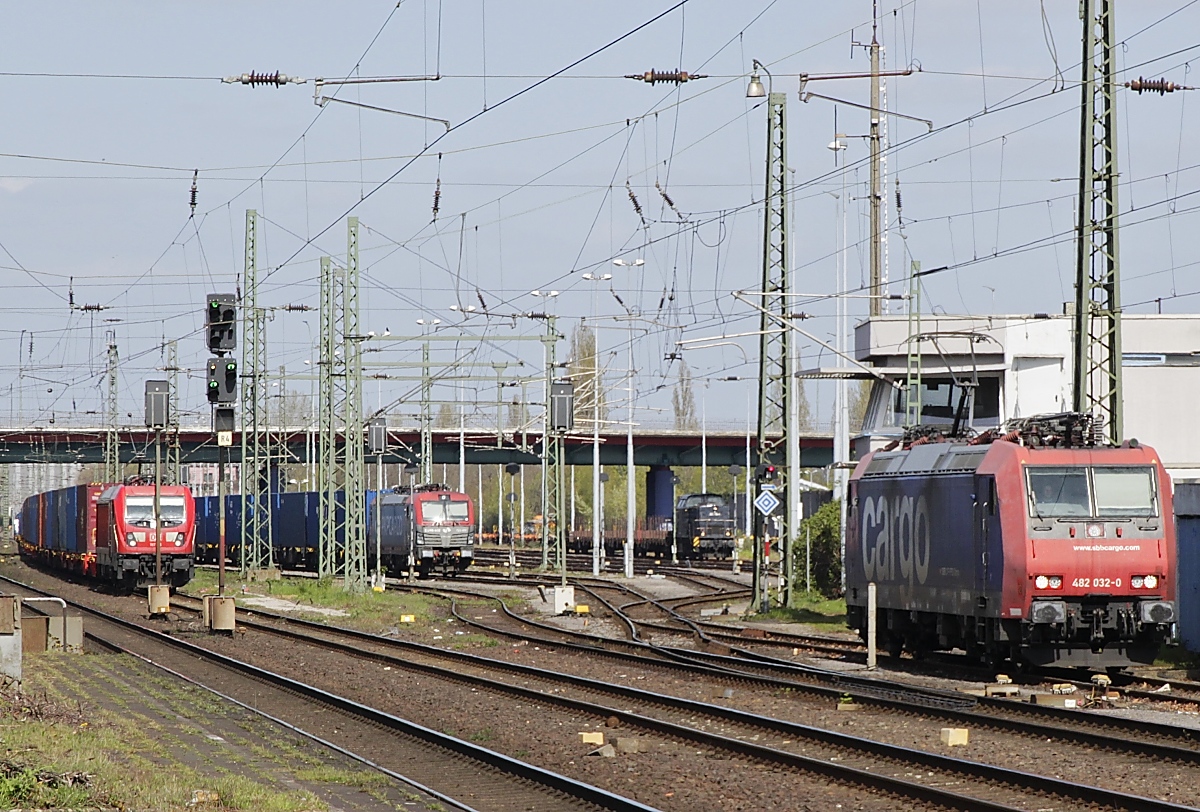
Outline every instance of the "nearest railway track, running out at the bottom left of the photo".
<path fill-rule="evenodd" d="M 18 595 L 42 590 L 0 578 Z M 90 643 L 137 656 L 214 691 L 456 810 L 646 812 L 653 807 L 414 724 L 139 624 L 67 601 L 86 618 Z M 468 800 L 469 799 L 469 800 Z"/>

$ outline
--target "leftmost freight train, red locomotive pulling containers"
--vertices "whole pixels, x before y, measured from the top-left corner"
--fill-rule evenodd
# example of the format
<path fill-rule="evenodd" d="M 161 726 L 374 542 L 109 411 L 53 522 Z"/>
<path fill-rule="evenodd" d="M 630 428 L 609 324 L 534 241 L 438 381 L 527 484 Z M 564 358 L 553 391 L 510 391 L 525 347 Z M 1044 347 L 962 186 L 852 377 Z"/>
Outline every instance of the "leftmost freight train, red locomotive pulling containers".
<path fill-rule="evenodd" d="M 20 509 L 18 543 L 28 561 L 130 590 L 192 579 L 196 506 L 187 488 L 160 488 L 155 545 L 154 486 L 79 485 L 38 493 Z"/>

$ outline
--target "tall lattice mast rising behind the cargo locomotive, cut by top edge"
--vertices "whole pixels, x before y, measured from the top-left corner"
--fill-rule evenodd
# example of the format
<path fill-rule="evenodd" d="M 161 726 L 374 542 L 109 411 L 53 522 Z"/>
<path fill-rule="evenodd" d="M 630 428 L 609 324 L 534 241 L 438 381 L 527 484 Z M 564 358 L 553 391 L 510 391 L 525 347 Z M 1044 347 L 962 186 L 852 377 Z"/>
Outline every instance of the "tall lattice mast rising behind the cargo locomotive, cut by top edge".
<path fill-rule="evenodd" d="M 1116 25 L 1112 0 L 1082 0 L 1079 224 L 1075 252 L 1074 408 L 1123 434 L 1121 261 L 1117 246 Z"/>

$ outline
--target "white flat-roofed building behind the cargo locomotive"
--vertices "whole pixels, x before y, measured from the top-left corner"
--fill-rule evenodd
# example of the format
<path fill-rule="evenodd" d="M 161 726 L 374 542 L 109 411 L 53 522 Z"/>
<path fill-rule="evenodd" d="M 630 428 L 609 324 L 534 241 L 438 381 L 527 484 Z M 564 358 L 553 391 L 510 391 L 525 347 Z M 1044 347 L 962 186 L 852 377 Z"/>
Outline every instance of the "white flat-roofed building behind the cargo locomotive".
<path fill-rule="evenodd" d="M 1176 479 L 1200 476 L 1200 431 L 1193 409 L 1200 403 L 1200 315 L 1123 315 L 1124 437 L 1153 446 Z M 902 385 L 910 347 L 919 349 L 923 423 L 954 422 L 962 389 L 977 383 L 972 414 L 976 429 L 1012 417 L 1072 408 L 1072 327 L 1069 315 L 923 315 L 910 342 L 907 315 L 868 319 L 854 330 L 854 359 L 888 381 Z M 800 373 L 834 377 L 834 371 Z M 902 434 L 905 397 L 900 389 L 863 369 L 872 380 L 870 404 L 856 456 Z M 851 427 L 853 435 L 859 427 Z"/>

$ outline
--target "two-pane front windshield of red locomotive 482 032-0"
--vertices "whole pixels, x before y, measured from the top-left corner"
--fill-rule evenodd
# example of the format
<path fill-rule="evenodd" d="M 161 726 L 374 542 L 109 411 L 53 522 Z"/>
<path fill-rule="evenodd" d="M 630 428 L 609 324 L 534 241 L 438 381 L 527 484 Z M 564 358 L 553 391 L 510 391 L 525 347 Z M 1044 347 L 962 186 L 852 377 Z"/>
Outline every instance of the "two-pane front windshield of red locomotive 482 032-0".
<path fill-rule="evenodd" d="M 1028 468 L 1030 515 L 1038 518 L 1157 516 L 1148 465 Z"/>

